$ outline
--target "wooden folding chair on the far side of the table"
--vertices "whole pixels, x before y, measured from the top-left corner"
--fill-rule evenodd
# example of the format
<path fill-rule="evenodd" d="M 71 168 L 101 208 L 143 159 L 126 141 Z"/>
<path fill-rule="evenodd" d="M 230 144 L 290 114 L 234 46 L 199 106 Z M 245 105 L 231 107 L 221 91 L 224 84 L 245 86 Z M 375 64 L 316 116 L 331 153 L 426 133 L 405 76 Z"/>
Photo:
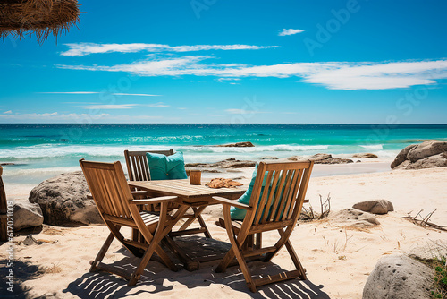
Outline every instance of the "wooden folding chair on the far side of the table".
<path fill-rule="evenodd" d="M 130 181 L 150 181 L 150 171 L 148 166 L 147 153 L 162 154 L 165 156 L 173 155 L 173 149 L 169 150 L 151 150 L 151 151 L 129 151 L 124 150 L 124 158 L 126 159 L 127 170 L 129 173 Z M 179 204 L 176 202 L 171 202 L 168 205 L 169 210 L 179 209 Z M 170 236 L 179 235 L 195 235 L 204 234 L 207 238 L 211 238 L 211 234 L 208 231 L 207 225 L 200 215 L 206 206 L 201 207 L 190 207 L 192 213 L 186 213 L 182 218 L 186 221 L 181 225 L 177 231 L 171 232 Z M 149 207 L 152 211 L 156 211 L 156 207 Z M 195 221 L 198 220 L 199 228 L 188 227 Z"/>

